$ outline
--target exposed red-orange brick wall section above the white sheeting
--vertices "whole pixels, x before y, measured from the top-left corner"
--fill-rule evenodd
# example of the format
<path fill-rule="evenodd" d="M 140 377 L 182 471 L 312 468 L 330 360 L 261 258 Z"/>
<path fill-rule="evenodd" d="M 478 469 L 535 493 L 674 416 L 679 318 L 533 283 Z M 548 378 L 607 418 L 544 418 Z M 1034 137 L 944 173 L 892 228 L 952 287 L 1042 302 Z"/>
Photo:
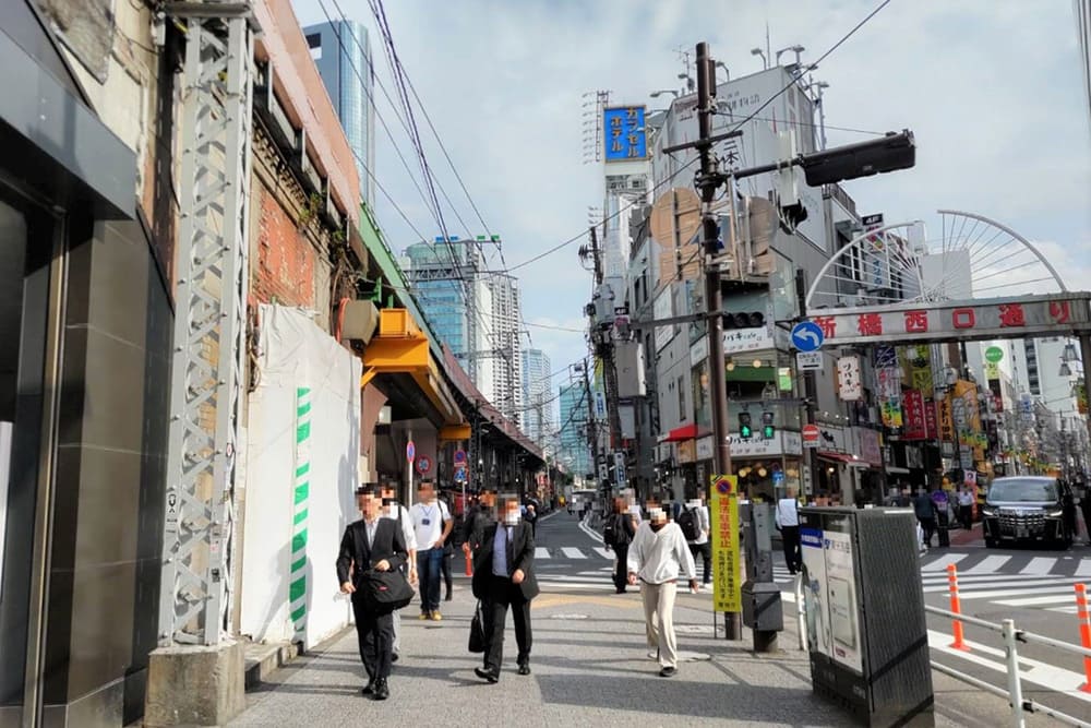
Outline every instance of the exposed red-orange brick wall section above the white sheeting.
<path fill-rule="evenodd" d="M 314 308 L 314 247 L 264 184 L 255 189 L 261 200 L 251 294 L 262 303 Z"/>

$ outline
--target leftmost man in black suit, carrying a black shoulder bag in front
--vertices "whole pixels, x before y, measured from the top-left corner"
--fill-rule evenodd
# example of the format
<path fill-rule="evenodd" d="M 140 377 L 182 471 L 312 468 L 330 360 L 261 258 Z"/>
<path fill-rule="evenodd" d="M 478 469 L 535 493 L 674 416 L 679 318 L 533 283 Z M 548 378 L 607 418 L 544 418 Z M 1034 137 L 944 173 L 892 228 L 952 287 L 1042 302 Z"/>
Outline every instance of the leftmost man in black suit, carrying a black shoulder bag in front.
<path fill-rule="evenodd" d="M 381 517 L 383 498 L 379 487 L 359 488 L 356 499 L 363 518 L 345 529 L 337 557 L 337 581 L 341 592 L 352 595 L 360 660 L 368 671 L 368 684 L 362 692 L 376 701 L 384 701 L 391 695 L 387 679 L 394 649 L 394 616 L 392 612 L 377 614 L 368 609 L 362 595 L 357 593 L 357 586 L 369 569 L 401 569 L 409 553 L 397 522 Z"/>

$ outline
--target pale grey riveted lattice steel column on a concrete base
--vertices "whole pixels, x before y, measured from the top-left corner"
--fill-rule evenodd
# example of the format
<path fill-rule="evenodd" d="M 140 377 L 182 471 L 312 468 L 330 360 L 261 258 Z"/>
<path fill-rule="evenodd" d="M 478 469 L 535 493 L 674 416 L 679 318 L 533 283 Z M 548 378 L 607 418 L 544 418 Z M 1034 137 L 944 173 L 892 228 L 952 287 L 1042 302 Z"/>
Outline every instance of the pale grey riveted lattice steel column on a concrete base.
<path fill-rule="evenodd" d="M 249 2 L 168 12 L 187 32 L 159 643 L 216 645 L 230 618 L 245 391 L 253 19 Z"/>

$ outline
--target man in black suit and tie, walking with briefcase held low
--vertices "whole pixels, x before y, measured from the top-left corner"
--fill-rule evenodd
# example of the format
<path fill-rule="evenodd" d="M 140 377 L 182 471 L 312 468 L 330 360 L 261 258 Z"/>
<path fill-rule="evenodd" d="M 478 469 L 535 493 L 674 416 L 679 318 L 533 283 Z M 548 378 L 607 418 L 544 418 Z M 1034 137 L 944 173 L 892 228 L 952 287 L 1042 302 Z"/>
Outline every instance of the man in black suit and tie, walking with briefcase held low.
<path fill-rule="evenodd" d="M 530 600 L 538 596 L 535 578 L 535 537 L 520 518 L 516 496 L 500 498 L 499 521 L 484 528 L 473 554 L 473 596 L 482 601 L 484 667 L 473 672 L 490 683 L 500 680 L 504 661 L 504 622 L 507 608 L 515 621 L 519 675 L 530 675 Z"/>

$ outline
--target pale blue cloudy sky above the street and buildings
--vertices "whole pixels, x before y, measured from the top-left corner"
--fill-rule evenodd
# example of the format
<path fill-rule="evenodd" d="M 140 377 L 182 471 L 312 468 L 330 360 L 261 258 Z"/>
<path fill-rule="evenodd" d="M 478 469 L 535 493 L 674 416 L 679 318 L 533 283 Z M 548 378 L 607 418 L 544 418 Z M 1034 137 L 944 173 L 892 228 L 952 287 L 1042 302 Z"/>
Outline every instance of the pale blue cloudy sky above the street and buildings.
<path fill-rule="evenodd" d="M 363 0 L 338 0 L 372 28 Z M 293 0 L 301 24 L 339 17 L 334 0 Z M 323 5 L 325 11 L 323 10 Z M 582 94 L 604 88 L 619 103 L 649 104 L 676 86 L 679 47 L 711 44 L 732 76 L 762 69 L 751 49 L 800 44 L 824 53 L 877 2 L 611 0 L 440 3 L 397 0 L 386 14 L 401 62 L 509 265 L 586 230 L 602 206 L 601 169 L 583 164 Z M 916 134 L 913 170 L 850 182 L 863 213 L 887 220 L 940 207 L 996 218 L 1040 243 L 1070 288 L 1091 274 L 1091 130 L 1080 91 L 1068 0 L 895 0 L 815 72 L 826 81 L 828 127 Z M 717 5 L 717 7 L 711 7 Z M 376 73 L 389 71 L 379 46 Z M 793 55 L 788 53 L 786 60 Z M 379 111 L 408 140 L 376 91 Z M 661 99 L 660 99 L 661 100 Z M 419 119 L 431 166 L 455 202 L 454 235 L 483 232 L 434 138 Z M 391 140 L 377 131 L 375 172 L 424 235 L 436 225 Z M 829 144 L 866 139 L 828 131 Z M 410 169 L 419 176 L 410 160 Z M 395 249 L 417 236 L 380 195 L 380 222 Z M 582 329 L 590 275 L 574 243 L 517 274 L 529 324 Z M 499 265 L 499 261 L 496 263 Z M 580 333 L 530 326 L 553 369 L 585 354 Z M 560 380 L 558 380 L 560 381 Z"/>

